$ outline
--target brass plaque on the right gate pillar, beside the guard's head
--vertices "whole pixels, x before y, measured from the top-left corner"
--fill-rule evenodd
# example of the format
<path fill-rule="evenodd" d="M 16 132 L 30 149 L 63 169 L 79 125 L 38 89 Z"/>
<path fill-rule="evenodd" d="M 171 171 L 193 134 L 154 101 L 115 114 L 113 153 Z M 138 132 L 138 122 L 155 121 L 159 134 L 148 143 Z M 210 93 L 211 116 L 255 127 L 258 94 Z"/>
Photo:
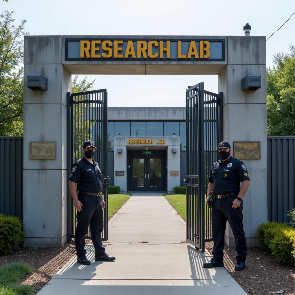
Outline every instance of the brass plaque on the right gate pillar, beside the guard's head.
<path fill-rule="evenodd" d="M 260 159 L 260 141 L 234 141 L 234 158 Z"/>

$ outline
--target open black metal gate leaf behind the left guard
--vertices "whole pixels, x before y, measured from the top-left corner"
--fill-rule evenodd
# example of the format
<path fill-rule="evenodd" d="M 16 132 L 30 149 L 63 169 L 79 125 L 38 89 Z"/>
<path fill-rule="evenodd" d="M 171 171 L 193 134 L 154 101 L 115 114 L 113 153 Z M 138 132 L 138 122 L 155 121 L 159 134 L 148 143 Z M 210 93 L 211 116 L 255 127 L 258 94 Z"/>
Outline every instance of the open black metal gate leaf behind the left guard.
<path fill-rule="evenodd" d="M 93 140 L 96 145 L 94 160 L 99 164 L 102 171 L 102 187 L 106 207 L 104 208 L 104 231 L 102 240 L 108 240 L 108 184 L 107 176 L 107 90 L 93 90 L 79 93 L 67 93 L 68 101 L 68 161 L 67 171 L 70 176 L 70 167 L 78 159 L 83 157 L 82 146 L 86 140 Z M 68 186 L 68 181 L 65 181 Z M 67 194 L 67 223 L 68 241 L 75 237 L 77 224 L 77 212 L 71 198 L 70 190 Z M 91 238 L 90 230 L 86 238 Z"/>

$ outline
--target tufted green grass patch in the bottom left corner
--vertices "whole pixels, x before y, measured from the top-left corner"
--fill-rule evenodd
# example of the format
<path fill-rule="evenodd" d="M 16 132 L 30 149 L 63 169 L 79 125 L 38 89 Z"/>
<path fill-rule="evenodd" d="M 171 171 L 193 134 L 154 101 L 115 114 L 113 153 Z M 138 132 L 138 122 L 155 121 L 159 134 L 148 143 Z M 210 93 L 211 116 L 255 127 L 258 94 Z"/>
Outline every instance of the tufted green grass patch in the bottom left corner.
<path fill-rule="evenodd" d="M 19 280 L 33 273 L 30 266 L 24 263 L 11 263 L 0 266 L 0 295 L 34 295 L 35 288 L 22 285 Z"/>

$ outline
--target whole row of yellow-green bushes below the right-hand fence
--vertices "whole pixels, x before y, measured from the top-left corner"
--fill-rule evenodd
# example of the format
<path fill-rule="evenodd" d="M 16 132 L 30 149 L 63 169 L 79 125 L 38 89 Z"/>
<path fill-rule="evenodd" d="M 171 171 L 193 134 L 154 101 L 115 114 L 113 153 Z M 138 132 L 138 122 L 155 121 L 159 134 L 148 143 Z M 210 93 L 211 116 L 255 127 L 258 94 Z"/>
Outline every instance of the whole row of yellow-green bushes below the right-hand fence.
<path fill-rule="evenodd" d="M 268 222 L 257 228 L 261 248 L 284 264 L 295 264 L 295 228 L 286 223 Z"/>

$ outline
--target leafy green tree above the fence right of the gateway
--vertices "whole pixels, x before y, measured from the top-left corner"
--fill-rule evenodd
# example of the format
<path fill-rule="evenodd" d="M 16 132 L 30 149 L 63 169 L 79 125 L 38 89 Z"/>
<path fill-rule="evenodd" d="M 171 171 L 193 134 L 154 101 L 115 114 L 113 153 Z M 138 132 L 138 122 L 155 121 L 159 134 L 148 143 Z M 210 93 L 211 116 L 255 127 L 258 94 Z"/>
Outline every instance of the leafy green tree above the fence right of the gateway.
<path fill-rule="evenodd" d="M 266 71 L 267 135 L 295 136 L 295 46 L 273 57 Z"/>

